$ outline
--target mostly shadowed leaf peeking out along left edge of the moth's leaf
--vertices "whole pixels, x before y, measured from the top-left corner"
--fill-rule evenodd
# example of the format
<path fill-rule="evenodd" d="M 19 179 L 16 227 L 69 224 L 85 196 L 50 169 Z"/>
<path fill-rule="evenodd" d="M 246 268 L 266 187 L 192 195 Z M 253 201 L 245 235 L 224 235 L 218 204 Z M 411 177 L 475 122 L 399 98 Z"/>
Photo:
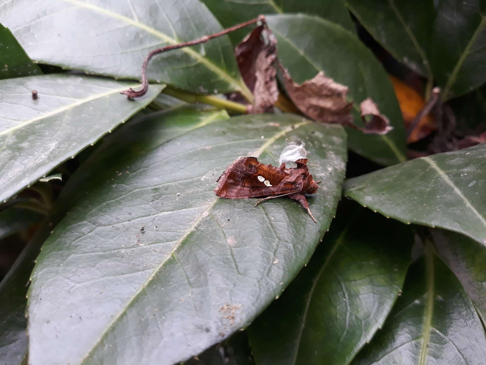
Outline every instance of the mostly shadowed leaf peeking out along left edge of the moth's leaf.
<path fill-rule="evenodd" d="M 5 278 L 0 286 L 0 297 L 2 303 L 8 305 L 0 306 L 0 359 L 7 364 L 17 364 L 27 352 L 28 338 L 26 336 L 27 319 L 25 310 L 27 305 L 26 283 L 29 280 L 35 259 L 39 249 L 47 237 L 50 236 L 52 228 L 61 220 L 72 205 L 84 196 L 86 183 L 91 179 L 95 181 L 99 169 L 105 168 L 105 158 L 111 156 L 116 158 L 124 149 L 121 141 L 133 139 L 141 140 L 146 135 L 144 124 L 159 124 L 159 143 L 168 141 L 178 135 L 188 132 L 194 128 L 204 125 L 210 114 L 200 114 L 194 110 L 180 110 L 177 113 L 192 116 L 192 118 L 173 118 L 170 121 L 164 119 L 164 113 L 145 114 L 141 110 L 130 123 L 117 128 L 113 133 L 105 135 L 102 141 L 96 146 L 96 150 L 81 165 L 78 170 L 69 178 L 68 183 L 61 191 L 56 201 L 56 206 L 52 209 L 52 214 L 46 218 L 37 230 L 34 237 L 30 240 L 27 248 L 17 259 L 16 264 L 9 272 L 8 279 Z M 219 118 L 224 118 L 224 112 L 217 112 Z M 201 123 L 203 121 L 203 123 Z M 133 127 L 132 127 L 133 126 Z M 125 129 L 129 128 L 128 132 Z M 144 141 L 145 143 L 148 141 Z M 141 142 L 143 143 L 143 142 Z M 103 154 L 103 158 L 100 155 Z"/>

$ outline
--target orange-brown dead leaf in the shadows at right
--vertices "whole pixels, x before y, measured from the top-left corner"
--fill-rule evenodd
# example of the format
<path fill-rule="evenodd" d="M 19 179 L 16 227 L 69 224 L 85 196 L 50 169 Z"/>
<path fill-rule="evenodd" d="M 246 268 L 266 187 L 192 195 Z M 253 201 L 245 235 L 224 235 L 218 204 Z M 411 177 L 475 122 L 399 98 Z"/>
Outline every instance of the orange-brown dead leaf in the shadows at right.
<path fill-rule="evenodd" d="M 415 116 L 425 106 L 425 99 L 417 91 L 407 86 L 398 78 L 391 75 L 389 77 L 392 81 L 395 94 L 397 95 L 401 114 L 405 122 L 405 128 L 409 128 Z M 430 114 L 422 117 L 417 127 L 414 128 L 412 133 L 408 136 L 407 143 L 417 142 L 428 136 L 435 129 L 437 129 L 437 125 Z"/>

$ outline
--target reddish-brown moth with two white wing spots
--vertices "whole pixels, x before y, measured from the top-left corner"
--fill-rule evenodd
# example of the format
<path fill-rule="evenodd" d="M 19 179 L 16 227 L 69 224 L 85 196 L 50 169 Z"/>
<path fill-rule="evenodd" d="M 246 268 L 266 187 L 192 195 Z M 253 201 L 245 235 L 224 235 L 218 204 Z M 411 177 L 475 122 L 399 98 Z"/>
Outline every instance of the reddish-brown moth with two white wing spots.
<path fill-rule="evenodd" d="M 245 199 L 266 197 L 257 201 L 258 205 L 268 199 L 288 196 L 298 201 L 312 216 L 304 193 L 313 194 L 317 191 L 317 183 L 307 167 L 307 159 L 295 161 L 297 167 L 285 168 L 265 165 L 256 157 L 239 157 L 226 167 L 225 172 L 217 180 L 214 192 L 218 197 L 226 199 Z"/>

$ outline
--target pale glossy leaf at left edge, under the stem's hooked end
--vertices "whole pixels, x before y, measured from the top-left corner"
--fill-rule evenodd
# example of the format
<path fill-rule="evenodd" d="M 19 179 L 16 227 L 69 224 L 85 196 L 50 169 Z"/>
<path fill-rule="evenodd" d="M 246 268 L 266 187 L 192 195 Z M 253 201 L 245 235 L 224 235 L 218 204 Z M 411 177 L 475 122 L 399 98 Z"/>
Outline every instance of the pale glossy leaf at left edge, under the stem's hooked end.
<path fill-rule="evenodd" d="M 149 104 L 162 89 L 153 85 L 143 99 L 120 91 L 133 82 L 73 74 L 0 81 L 0 201 L 45 177 L 93 145 Z M 32 99 L 31 90 L 39 98 Z"/>

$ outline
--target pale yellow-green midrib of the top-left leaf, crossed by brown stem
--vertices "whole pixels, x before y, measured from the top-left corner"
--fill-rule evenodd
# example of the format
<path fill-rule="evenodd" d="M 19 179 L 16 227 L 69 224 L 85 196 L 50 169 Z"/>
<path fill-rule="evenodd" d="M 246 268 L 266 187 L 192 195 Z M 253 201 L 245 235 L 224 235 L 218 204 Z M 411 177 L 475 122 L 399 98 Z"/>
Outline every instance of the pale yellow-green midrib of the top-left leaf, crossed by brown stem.
<path fill-rule="evenodd" d="M 84 8 L 87 8 L 87 9 L 91 9 L 91 10 L 93 10 L 95 12 L 99 12 L 99 13 L 105 14 L 108 17 L 120 19 L 121 21 L 124 21 L 124 22 L 126 22 L 128 24 L 131 24 L 131 25 L 136 26 L 136 27 L 138 27 L 140 29 L 143 29 L 144 31 L 146 31 L 146 32 L 148 32 L 148 33 L 150 33 L 150 34 L 152 34 L 152 35 L 154 35 L 154 36 L 162 39 L 163 41 L 165 41 L 167 43 L 177 44 L 177 41 L 174 38 L 169 37 L 168 35 L 160 32 L 160 31 L 158 31 L 158 30 L 156 30 L 156 29 L 154 29 L 152 27 L 149 27 L 148 25 L 146 25 L 144 23 L 138 22 L 135 19 L 131 19 L 131 18 L 122 16 L 120 14 L 117 14 L 115 12 L 112 12 L 110 10 L 106 10 L 106 9 L 104 9 L 102 7 L 99 7 L 99 6 L 96 6 L 96 5 L 92 5 L 90 3 L 81 2 L 81 1 L 78 1 L 78 0 L 62 0 L 62 1 L 69 2 L 69 3 L 71 3 L 73 5 L 76 5 L 76 6 L 79 6 L 79 7 L 84 7 Z M 219 68 L 214 63 L 212 63 L 208 58 L 202 57 L 201 55 L 199 55 L 197 52 L 195 52 L 194 50 L 192 50 L 189 47 L 181 48 L 181 50 L 183 52 L 187 53 L 188 55 L 190 55 L 192 58 L 197 59 L 200 63 L 202 63 L 203 65 L 205 65 L 210 71 L 216 73 L 223 80 L 226 80 L 226 82 L 228 84 L 232 85 L 233 87 L 235 87 L 237 91 L 240 91 L 245 96 L 248 96 L 248 95 L 246 95 L 248 93 L 248 92 L 246 92 L 247 90 L 244 90 L 245 88 L 243 88 L 242 80 L 236 80 L 229 73 L 226 73 L 221 68 Z"/>

